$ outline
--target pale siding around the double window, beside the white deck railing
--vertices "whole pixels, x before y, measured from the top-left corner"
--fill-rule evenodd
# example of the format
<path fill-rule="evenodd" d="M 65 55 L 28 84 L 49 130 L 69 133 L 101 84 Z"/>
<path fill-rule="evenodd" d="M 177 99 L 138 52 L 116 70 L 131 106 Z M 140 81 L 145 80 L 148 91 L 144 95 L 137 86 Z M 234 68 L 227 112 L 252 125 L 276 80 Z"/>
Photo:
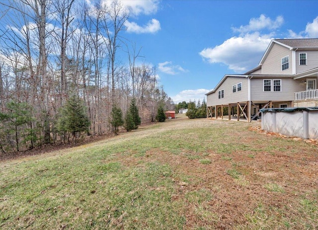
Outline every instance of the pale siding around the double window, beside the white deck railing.
<path fill-rule="evenodd" d="M 306 90 L 306 84 L 302 83 L 301 79 L 279 78 L 281 91 L 264 91 L 263 79 L 278 78 L 252 78 L 250 80 L 252 101 L 292 101 L 295 99 L 295 92 Z"/>

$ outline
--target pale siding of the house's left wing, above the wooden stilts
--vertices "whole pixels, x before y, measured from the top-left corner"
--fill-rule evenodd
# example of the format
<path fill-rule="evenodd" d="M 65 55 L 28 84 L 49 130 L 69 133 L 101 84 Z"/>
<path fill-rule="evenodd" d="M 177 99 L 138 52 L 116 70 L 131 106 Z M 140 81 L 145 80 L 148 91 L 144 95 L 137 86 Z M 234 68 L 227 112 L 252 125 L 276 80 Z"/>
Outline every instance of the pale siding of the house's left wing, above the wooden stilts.
<path fill-rule="evenodd" d="M 233 92 L 232 86 L 242 83 L 240 91 Z M 219 91 L 224 89 L 224 98 L 219 99 Z M 207 106 L 226 105 L 248 100 L 248 79 L 246 77 L 227 77 L 215 92 L 207 95 Z"/>

